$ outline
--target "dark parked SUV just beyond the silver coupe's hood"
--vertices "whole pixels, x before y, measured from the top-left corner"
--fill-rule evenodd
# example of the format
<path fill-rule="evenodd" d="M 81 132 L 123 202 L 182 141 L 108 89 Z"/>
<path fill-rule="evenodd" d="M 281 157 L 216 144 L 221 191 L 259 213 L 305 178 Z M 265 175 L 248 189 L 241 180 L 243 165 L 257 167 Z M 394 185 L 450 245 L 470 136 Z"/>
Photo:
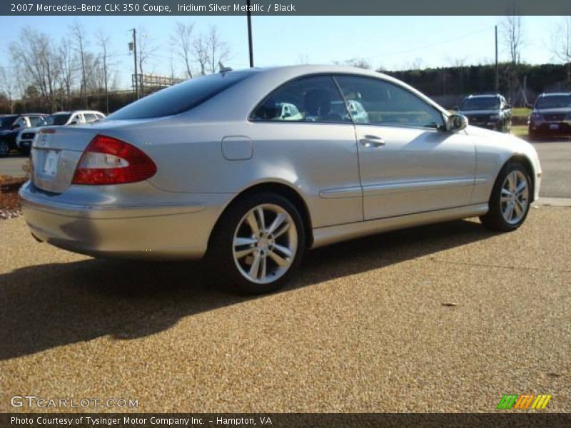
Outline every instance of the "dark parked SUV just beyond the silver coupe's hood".
<path fill-rule="evenodd" d="M 473 126 L 500 132 L 512 128 L 512 108 L 499 93 L 467 96 L 456 110 Z"/>

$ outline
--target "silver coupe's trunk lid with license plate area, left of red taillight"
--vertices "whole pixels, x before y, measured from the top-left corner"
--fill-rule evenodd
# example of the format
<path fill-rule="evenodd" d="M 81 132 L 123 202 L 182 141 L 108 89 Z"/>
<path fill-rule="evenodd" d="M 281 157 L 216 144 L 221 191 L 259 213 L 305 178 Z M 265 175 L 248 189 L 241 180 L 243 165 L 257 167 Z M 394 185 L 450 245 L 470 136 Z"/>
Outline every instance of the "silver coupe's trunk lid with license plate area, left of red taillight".
<path fill-rule="evenodd" d="M 98 131 L 92 126 L 43 128 L 31 148 L 34 185 L 54 193 L 69 188 L 84 149 Z"/>

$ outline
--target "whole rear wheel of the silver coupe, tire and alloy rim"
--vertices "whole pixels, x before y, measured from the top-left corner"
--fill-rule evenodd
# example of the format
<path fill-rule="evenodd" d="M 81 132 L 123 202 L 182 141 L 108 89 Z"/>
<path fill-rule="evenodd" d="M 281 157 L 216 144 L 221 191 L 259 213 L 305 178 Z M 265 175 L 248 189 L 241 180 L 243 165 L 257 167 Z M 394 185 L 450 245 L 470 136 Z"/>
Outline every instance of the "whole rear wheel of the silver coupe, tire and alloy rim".
<path fill-rule="evenodd" d="M 237 200 L 223 213 L 211 235 L 207 261 L 230 290 L 263 294 L 283 287 L 295 274 L 305 242 L 295 205 L 281 195 L 258 193 Z"/>

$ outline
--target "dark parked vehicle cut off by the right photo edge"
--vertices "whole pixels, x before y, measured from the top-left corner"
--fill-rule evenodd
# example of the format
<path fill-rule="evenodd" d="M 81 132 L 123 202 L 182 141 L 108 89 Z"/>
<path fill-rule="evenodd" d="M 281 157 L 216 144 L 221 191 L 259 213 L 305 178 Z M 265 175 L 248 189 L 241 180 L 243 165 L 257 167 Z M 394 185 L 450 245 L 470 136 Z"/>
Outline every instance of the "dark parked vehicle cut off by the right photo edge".
<path fill-rule="evenodd" d="M 542 93 L 537 97 L 528 122 L 528 135 L 571 136 L 571 93 Z"/>

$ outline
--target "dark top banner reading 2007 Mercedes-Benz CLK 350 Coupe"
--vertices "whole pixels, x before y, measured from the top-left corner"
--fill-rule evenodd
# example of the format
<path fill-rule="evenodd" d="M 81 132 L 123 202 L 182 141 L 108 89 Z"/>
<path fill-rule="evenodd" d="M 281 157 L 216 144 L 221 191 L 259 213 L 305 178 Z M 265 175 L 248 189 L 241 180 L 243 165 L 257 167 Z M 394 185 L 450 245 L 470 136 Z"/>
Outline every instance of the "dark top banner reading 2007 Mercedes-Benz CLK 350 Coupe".
<path fill-rule="evenodd" d="M 568 15 L 569 0 L 251 0 L 253 15 Z M 8 0 L 0 15 L 243 15 L 246 0 Z"/>

